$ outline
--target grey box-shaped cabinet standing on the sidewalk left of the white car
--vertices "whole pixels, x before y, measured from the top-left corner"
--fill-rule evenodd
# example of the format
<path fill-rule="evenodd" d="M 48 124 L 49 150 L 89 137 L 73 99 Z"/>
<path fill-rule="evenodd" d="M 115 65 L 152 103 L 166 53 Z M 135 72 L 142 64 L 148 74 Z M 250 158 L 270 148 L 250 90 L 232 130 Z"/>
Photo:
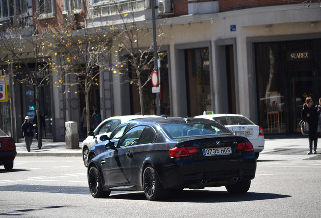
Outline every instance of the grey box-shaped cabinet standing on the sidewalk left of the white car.
<path fill-rule="evenodd" d="M 77 122 L 65 122 L 65 142 L 66 149 L 79 149 L 79 135 Z"/>

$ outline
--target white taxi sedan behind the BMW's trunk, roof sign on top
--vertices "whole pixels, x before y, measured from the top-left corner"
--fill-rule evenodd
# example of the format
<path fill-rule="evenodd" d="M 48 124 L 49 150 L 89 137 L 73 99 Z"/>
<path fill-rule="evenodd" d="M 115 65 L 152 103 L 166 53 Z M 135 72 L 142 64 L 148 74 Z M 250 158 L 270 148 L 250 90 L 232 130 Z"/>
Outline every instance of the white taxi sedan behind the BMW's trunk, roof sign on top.
<path fill-rule="evenodd" d="M 195 116 L 196 118 L 206 118 L 214 120 L 229 130 L 234 132 L 236 135 L 245 136 L 250 140 L 254 147 L 254 153 L 256 159 L 259 153 L 264 149 L 264 131 L 263 128 L 254 124 L 247 117 L 240 114 L 205 114 Z"/>

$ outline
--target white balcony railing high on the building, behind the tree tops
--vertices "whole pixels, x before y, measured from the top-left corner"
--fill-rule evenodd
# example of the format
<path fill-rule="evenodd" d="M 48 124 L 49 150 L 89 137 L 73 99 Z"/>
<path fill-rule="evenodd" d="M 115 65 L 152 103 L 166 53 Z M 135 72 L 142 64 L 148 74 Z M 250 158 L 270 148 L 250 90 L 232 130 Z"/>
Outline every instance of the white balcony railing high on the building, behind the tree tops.
<path fill-rule="evenodd" d="M 89 16 L 105 16 L 120 12 L 137 11 L 149 8 L 148 0 L 126 0 L 117 3 L 104 3 L 101 5 L 90 6 L 88 9 Z M 118 8 L 118 9 L 117 9 Z"/>

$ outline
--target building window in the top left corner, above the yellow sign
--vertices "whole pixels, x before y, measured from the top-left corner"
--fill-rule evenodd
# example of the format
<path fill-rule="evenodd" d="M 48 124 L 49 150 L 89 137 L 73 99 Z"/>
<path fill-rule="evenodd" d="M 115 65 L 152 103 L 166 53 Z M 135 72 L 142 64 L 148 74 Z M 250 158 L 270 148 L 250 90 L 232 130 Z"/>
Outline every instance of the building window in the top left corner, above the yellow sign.
<path fill-rule="evenodd" d="M 0 8 L 0 18 L 8 18 L 27 13 L 25 0 L 1 0 Z"/>

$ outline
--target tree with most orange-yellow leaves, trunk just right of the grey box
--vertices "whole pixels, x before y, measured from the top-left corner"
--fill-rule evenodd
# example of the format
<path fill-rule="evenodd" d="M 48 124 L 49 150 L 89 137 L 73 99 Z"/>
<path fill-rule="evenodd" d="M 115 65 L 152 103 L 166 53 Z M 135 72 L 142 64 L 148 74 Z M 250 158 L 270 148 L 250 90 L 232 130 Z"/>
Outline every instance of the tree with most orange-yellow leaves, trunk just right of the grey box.
<path fill-rule="evenodd" d="M 71 10 L 67 11 L 63 22 L 49 28 L 52 39 L 50 48 L 59 60 L 55 65 L 61 76 L 59 82 L 67 87 L 78 85 L 85 94 L 88 131 L 91 128 L 89 93 L 92 87 L 99 85 L 100 72 L 108 69 L 110 54 L 110 29 L 99 19 L 89 15 L 86 8 L 77 14 Z M 76 81 L 68 81 L 66 78 L 70 75 Z"/>

